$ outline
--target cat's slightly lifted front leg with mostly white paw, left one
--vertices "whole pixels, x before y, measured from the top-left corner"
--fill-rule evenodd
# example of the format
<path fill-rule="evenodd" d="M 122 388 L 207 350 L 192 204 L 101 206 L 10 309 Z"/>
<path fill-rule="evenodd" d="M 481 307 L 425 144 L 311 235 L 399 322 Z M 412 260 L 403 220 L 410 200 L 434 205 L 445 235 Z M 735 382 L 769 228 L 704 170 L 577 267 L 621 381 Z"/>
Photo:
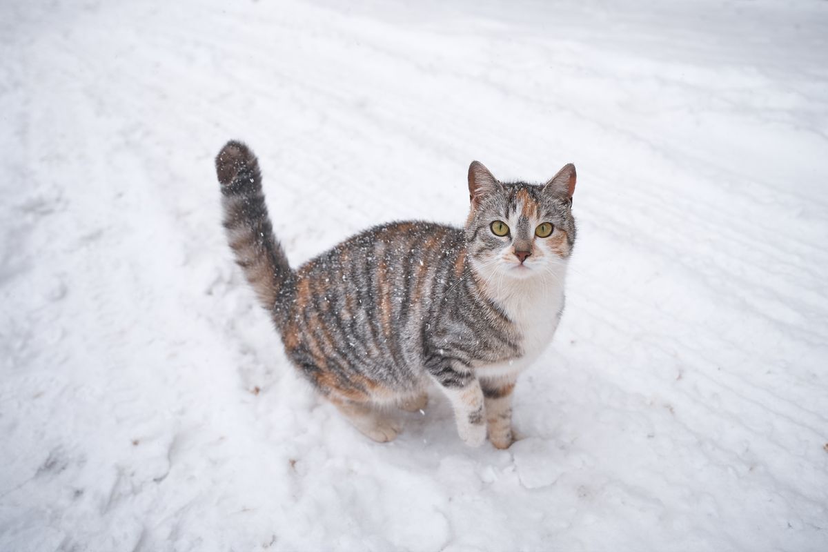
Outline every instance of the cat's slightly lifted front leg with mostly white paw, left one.
<path fill-rule="evenodd" d="M 431 377 L 449 397 L 455 410 L 457 433 L 465 444 L 479 447 L 486 440 L 486 413 L 483 390 L 471 368 L 459 362 L 443 361 L 430 367 Z"/>

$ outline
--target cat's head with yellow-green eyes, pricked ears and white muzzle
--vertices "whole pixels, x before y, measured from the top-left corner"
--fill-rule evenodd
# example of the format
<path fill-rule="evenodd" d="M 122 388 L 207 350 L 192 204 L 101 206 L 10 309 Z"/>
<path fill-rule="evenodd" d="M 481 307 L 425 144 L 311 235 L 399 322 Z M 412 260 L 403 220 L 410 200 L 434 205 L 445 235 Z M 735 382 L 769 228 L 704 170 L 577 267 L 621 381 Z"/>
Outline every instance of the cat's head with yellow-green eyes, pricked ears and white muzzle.
<path fill-rule="evenodd" d="M 575 243 L 574 193 L 572 164 L 546 184 L 531 185 L 500 182 L 473 161 L 465 233 L 474 266 L 489 275 L 516 279 L 558 273 Z"/>

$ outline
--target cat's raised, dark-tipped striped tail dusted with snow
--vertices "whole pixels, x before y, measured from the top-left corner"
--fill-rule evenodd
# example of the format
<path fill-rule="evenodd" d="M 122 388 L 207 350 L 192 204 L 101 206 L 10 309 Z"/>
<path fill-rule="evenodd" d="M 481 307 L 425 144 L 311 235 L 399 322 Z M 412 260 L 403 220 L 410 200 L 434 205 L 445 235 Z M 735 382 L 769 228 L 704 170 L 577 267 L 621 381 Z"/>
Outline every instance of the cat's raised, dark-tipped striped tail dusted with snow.
<path fill-rule="evenodd" d="M 267 216 L 258 160 L 248 146 L 231 140 L 215 157 L 215 171 L 230 248 L 262 305 L 278 323 L 280 297 L 288 295 L 280 291 L 290 284 L 292 272 Z"/>

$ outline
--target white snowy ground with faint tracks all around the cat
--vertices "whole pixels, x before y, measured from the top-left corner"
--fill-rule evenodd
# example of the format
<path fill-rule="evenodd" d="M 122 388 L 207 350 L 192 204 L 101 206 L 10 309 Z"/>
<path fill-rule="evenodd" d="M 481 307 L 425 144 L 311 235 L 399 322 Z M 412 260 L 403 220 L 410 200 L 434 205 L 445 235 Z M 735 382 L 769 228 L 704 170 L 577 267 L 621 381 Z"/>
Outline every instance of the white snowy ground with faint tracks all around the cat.
<path fill-rule="evenodd" d="M 828 550 L 828 2 L 7 1 L 0 46 L 3 552 Z M 315 399 L 231 137 L 294 264 L 575 162 L 525 439 Z"/>

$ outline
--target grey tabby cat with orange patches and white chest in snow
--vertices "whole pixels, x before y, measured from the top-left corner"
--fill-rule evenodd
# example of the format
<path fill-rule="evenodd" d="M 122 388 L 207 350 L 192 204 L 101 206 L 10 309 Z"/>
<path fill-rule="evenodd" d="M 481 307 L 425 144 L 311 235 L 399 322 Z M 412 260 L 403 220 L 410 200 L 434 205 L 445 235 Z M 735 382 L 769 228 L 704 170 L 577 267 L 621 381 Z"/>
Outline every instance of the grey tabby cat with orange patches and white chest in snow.
<path fill-rule="evenodd" d="M 465 228 L 420 221 L 370 228 L 295 270 L 273 235 L 258 159 L 231 141 L 215 159 L 236 262 L 287 357 L 357 430 L 379 442 L 426 389 L 454 408 L 460 438 L 513 443 L 517 375 L 551 342 L 575 244 L 575 166 L 544 185 L 469 166 Z"/>

